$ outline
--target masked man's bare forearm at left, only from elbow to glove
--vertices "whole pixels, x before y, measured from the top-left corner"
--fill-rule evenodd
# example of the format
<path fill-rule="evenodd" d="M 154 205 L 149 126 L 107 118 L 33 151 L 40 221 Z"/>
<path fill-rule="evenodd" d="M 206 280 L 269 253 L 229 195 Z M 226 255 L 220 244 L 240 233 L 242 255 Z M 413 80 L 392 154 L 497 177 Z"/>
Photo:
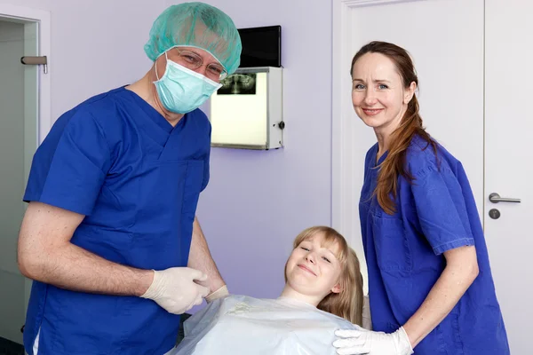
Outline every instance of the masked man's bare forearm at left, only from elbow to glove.
<path fill-rule="evenodd" d="M 28 278 L 73 291 L 141 296 L 153 280 L 149 270 L 112 263 L 68 242 L 26 256 Z"/>

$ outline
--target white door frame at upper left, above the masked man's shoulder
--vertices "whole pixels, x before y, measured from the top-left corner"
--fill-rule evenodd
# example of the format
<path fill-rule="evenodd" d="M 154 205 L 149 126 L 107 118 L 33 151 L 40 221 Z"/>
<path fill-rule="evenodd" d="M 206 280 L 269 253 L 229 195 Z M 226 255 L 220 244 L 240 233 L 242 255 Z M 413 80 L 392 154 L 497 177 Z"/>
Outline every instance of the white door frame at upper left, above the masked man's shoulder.
<path fill-rule="evenodd" d="M 28 22 L 35 22 L 38 26 L 38 51 L 39 55 L 45 55 L 48 61 L 48 74 L 44 74 L 43 68 L 37 70 L 38 80 L 38 127 L 37 145 L 43 142 L 44 137 L 52 128 L 52 92 L 51 92 L 51 16 L 50 12 L 32 9 L 12 4 L 0 4 L 0 18 L 12 18 Z"/>

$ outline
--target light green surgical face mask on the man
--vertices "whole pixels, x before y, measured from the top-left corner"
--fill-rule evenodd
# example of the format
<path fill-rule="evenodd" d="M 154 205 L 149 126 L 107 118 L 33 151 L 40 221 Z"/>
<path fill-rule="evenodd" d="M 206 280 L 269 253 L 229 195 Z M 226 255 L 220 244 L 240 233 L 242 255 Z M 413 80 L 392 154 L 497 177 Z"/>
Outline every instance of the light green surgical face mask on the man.
<path fill-rule="evenodd" d="M 169 60 L 166 52 L 164 55 L 167 59 L 164 75 L 161 79 L 157 76 L 154 84 L 159 100 L 167 110 L 175 114 L 187 114 L 194 111 L 222 86 Z M 155 75 L 157 75 L 157 69 L 155 69 Z"/>

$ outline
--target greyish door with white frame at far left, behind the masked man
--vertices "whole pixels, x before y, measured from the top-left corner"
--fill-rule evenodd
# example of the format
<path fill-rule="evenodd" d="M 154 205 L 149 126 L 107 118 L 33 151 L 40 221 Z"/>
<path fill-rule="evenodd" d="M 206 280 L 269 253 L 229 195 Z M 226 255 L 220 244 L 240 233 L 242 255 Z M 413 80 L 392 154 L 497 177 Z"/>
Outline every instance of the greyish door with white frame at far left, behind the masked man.
<path fill-rule="evenodd" d="M 39 137 L 50 129 L 50 80 L 21 58 L 49 51 L 49 19 L 48 12 L 0 4 L 0 352 L 22 343 L 31 289 L 17 266 L 22 195 Z"/>

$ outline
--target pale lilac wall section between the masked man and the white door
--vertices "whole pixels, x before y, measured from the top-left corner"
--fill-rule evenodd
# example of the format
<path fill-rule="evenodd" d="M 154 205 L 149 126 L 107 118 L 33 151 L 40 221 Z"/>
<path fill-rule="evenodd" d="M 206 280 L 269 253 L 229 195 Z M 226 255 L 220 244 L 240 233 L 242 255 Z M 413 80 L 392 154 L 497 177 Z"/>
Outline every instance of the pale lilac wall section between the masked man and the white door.
<path fill-rule="evenodd" d="M 167 1 L 167 4 L 178 4 Z M 330 225 L 330 0 L 211 0 L 237 28 L 282 26 L 282 150 L 211 149 L 198 217 L 230 292 L 276 297 L 296 235 Z"/>

